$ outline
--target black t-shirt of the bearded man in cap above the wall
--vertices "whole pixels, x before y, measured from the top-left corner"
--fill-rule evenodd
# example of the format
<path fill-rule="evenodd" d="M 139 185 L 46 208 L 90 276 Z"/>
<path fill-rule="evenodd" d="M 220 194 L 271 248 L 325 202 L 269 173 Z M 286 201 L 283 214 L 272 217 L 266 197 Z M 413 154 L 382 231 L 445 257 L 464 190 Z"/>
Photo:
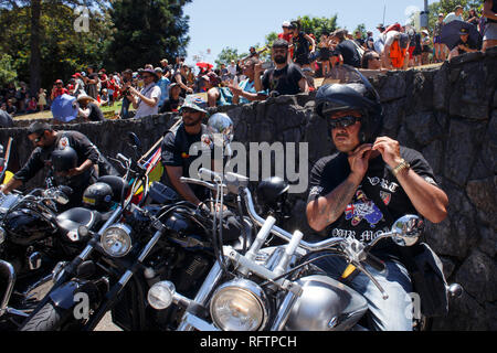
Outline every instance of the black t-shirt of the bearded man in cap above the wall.
<path fill-rule="evenodd" d="M 300 93 L 298 82 L 304 74 L 295 64 L 288 64 L 282 69 L 271 68 L 264 73 L 263 88 L 271 93 L 277 92 L 279 95 L 296 95 Z"/>

